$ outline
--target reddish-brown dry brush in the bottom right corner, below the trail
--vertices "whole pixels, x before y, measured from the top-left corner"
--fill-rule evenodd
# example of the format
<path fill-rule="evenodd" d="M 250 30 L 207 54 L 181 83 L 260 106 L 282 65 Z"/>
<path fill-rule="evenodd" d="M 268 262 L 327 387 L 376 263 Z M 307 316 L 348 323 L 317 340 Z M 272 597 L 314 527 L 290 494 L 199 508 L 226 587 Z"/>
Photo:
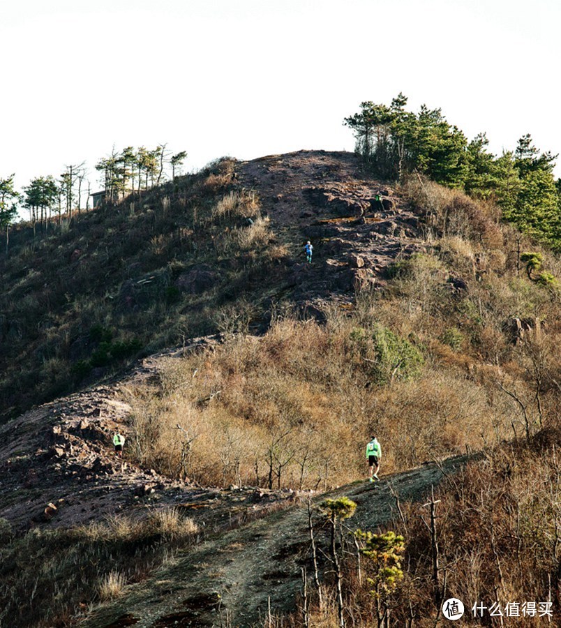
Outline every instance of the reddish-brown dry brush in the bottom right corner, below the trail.
<path fill-rule="evenodd" d="M 530 441 L 501 444 L 454 477 L 445 479 L 435 491 L 440 599 L 461 599 L 468 616 L 474 604 L 484 604 L 484 617 L 474 621 L 478 625 L 494 625 L 488 608 L 496 602 L 503 616 L 506 604 L 519 604 L 518 619 L 506 618 L 504 625 L 556 625 L 561 597 L 560 443 L 561 431 L 555 424 Z M 351 536 L 352 518 L 345 524 L 350 530 L 341 534 L 346 550 L 341 551 L 346 625 L 385 628 L 387 611 L 391 626 L 436 625 L 440 604 L 435 602 L 434 546 L 426 509 L 419 509 L 418 503 L 401 502 L 399 518 L 376 531 L 394 531 L 405 539 L 403 578 L 398 579 L 393 592 L 384 591 L 381 586 L 377 595 L 372 594 L 374 583 L 369 578 L 380 572 L 373 571 L 375 564 L 362 556 L 359 573 Z M 332 566 L 327 562 L 322 574 L 324 608 L 320 609 L 311 569 L 308 571 L 309 625 L 340 625 L 332 574 Z M 536 602 L 536 608 L 539 603 L 550 601 L 553 617 L 545 613 L 525 615 L 525 601 Z M 276 616 L 274 625 L 303 627 L 301 599 L 298 606 L 299 610 L 290 616 Z M 263 625 L 267 627 L 267 623 Z"/>

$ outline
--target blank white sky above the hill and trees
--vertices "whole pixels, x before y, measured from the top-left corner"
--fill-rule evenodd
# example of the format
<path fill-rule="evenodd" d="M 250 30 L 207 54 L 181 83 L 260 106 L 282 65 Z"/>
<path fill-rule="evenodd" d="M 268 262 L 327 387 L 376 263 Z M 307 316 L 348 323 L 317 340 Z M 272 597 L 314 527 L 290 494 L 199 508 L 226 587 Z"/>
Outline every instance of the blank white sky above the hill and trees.
<path fill-rule="evenodd" d="M 343 117 L 399 91 L 471 139 L 561 152 L 559 0 L 0 0 L 0 177 L 167 142 L 352 150 Z M 557 176 L 561 176 L 558 166 Z"/>

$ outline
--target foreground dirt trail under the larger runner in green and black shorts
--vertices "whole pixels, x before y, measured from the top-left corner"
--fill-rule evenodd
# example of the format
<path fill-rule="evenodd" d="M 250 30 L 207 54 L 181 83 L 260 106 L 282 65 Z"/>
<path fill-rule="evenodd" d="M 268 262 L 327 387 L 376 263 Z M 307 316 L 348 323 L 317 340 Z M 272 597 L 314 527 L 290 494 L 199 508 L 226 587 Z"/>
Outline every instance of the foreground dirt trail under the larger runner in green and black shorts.
<path fill-rule="evenodd" d="M 314 501 L 347 495 L 357 502 L 352 527 L 375 530 L 397 516 L 396 493 L 402 502 L 421 500 L 444 474 L 454 474 L 466 461 L 465 456 L 449 458 L 382 477 L 378 484 L 355 482 Z M 301 503 L 207 541 L 149 581 L 130 587 L 126 597 L 100 608 L 82 625 L 218 627 L 221 613 L 223 622 L 227 615 L 232 626 L 250 627 L 267 613 L 268 597 L 274 612 L 291 611 L 301 587 L 301 567 L 307 565 L 308 573 L 311 567 L 307 521 L 307 507 Z"/>

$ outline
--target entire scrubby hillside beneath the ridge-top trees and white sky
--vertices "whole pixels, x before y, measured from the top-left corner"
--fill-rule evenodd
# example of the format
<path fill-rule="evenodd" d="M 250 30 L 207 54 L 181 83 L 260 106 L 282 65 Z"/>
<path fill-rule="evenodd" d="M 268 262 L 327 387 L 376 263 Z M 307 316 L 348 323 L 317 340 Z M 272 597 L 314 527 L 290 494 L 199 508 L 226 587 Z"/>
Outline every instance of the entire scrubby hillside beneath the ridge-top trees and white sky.
<path fill-rule="evenodd" d="M 457 572 L 470 595 L 539 599 L 548 578 L 557 595 L 560 294 L 521 251 L 561 275 L 491 204 L 324 151 L 219 160 L 63 233 L 20 230 L 0 261 L 0 625 L 250 626 L 269 597 L 290 613 L 306 502 L 320 521 L 342 495 L 352 529 L 407 537 L 396 595 L 419 588 L 414 625 L 434 625 L 415 502 L 443 478 L 442 590 Z M 373 490 L 357 481 L 372 433 Z M 470 539 L 481 561 L 548 558 L 477 571 Z"/>

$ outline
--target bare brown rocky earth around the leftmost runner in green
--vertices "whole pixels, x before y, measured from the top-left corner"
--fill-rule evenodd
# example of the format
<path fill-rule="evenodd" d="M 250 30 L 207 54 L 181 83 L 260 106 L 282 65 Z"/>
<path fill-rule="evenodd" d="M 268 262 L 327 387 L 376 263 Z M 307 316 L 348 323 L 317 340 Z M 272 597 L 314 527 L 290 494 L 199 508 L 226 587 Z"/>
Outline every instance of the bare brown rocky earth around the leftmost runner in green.
<path fill-rule="evenodd" d="M 0 426 L 0 518 L 17 530 L 59 528 L 196 502 L 203 505 L 193 509 L 191 518 L 222 529 L 246 518 L 248 508 L 255 516 L 279 500 L 292 499 L 288 491 L 202 488 L 140 468 L 127 460 L 130 439 L 122 461 L 114 454 L 114 432 L 128 435 L 131 408 L 124 387 L 158 380 L 162 359 L 180 358 L 218 341 L 218 336 L 197 338 L 143 360 L 121 381 L 47 403 Z M 247 498 L 250 507 L 240 507 Z"/>

